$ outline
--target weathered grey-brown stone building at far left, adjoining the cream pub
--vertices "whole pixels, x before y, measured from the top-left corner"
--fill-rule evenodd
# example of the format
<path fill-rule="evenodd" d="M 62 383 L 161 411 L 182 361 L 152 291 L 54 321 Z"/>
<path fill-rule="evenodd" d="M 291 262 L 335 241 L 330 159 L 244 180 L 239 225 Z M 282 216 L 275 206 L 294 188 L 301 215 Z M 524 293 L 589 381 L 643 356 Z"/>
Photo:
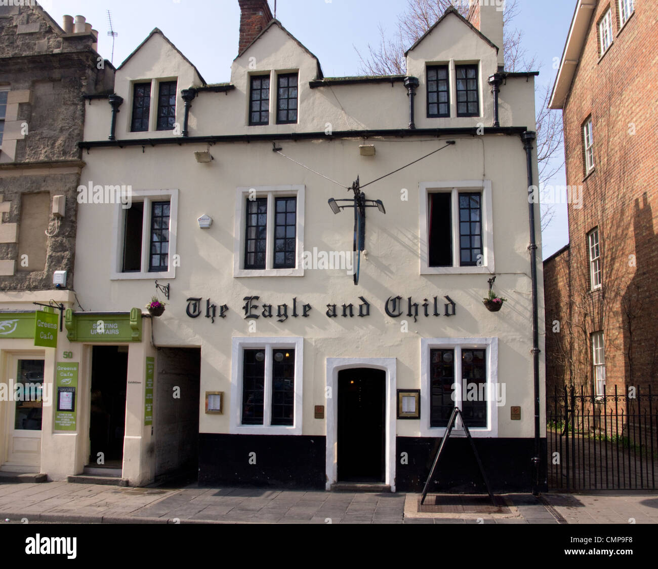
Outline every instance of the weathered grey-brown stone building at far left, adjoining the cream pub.
<path fill-rule="evenodd" d="M 34 312 L 41 310 L 34 302 L 74 306 L 76 188 L 84 165 L 78 142 L 91 102 L 83 96 L 111 88 L 114 70 L 96 52 L 97 32 L 82 16 L 76 22 L 67 16 L 64 29 L 36 3 L 4 4 L 0 6 L 0 375 L 3 382 L 19 381 L 21 374 L 43 381 L 44 366 L 45 373 L 52 375 L 53 363 L 43 348 L 34 346 Z M 56 285 L 55 271 L 66 271 L 66 281 Z M 30 318 L 32 329 L 26 325 Z M 0 468 L 38 466 L 40 414 L 40 408 L 28 410 L 13 399 L 0 402 Z"/>

